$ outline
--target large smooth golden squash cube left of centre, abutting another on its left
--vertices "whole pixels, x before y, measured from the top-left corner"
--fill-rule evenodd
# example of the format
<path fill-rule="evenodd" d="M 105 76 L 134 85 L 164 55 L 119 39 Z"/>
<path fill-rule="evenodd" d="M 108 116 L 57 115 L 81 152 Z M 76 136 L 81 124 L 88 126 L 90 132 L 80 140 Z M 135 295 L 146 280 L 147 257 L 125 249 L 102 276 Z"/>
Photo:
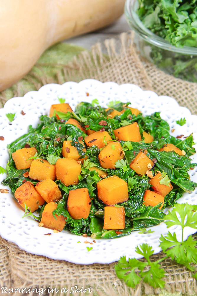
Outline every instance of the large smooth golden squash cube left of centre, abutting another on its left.
<path fill-rule="evenodd" d="M 59 158 L 56 161 L 56 178 L 64 185 L 76 185 L 81 173 L 81 165 L 72 158 Z"/>

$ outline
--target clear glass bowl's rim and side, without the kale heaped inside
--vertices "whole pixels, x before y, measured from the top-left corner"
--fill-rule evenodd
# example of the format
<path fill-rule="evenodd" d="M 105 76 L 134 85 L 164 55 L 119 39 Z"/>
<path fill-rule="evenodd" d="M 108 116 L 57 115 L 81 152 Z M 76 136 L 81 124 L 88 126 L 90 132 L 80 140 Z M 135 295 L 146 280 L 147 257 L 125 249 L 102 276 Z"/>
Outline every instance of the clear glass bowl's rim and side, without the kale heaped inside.
<path fill-rule="evenodd" d="M 138 0 L 126 0 L 125 15 L 135 31 L 134 42 L 143 58 L 152 62 L 165 73 L 197 82 L 197 47 L 176 47 L 145 28 L 136 9 Z"/>

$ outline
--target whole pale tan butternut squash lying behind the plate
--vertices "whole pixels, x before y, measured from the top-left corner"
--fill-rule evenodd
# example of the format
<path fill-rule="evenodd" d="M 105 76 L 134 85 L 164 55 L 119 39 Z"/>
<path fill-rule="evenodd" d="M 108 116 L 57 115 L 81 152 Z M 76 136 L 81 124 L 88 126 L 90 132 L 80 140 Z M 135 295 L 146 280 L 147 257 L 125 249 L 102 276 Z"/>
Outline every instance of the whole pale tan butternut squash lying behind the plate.
<path fill-rule="evenodd" d="M 105 27 L 125 0 L 0 1 L 0 91 L 22 78 L 52 44 Z"/>

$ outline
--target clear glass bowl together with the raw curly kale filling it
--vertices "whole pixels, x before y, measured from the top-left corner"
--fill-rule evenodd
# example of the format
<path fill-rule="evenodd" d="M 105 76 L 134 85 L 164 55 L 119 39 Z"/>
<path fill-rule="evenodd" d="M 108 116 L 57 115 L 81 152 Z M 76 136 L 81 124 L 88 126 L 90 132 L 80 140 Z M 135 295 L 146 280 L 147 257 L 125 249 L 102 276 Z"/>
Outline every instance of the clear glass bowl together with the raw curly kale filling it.
<path fill-rule="evenodd" d="M 125 14 L 142 57 L 197 82 L 197 0 L 127 0 Z"/>

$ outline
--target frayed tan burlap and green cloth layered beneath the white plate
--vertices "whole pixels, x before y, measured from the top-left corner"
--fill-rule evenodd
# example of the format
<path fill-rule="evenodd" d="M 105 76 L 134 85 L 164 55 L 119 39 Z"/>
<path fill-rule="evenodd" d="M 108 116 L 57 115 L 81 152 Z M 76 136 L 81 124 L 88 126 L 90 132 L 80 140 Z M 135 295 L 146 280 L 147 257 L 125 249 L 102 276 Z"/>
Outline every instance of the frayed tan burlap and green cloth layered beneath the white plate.
<path fill-rule="evenodd" d="M 72 59 L 73 54 L 76 56 Z M 154 90 L 159 95 L 172 96 L 180 105 L 197 113 L 197 84 L 176 79 L 157 70 L 150 63 L 141 62 L 133 45 L 132 33 L 123 33 L 117 39 L 95 44 L 91 52 L 69 44 L 53 46 L 42 55 L 28 75 L 10 89 L 1 92 L 0 101 L 3 105 L 9 98 L 23 96 L 27 91 L 39 89 L 46 83 L 70 80 L 78 82 L 85 78 L 115 81 L 119 84 L 134 83 L 142 89 Z M 160 252 L 153 255 L 152 259 L 162 257 L 163 253 Z M 86 266 L 52 260 L 27 253 L 0 238 L 0 287 L 54 287 L 60 291 L 62 288 L 70 291 L 71 287 L 78 285 L 94 287 L 93 293 L 86 295 L 197 295 L 196 281 L 190 271 L 169 259 L 161 264 L 167 274 L 165 289 L 153 289 L 146 284 L 130 289 L 117 278 L 115 263 Z M 13 295 L 17 296 L 16 293 Z M 72 294 L 67 292 L 66 295 Z"/>

